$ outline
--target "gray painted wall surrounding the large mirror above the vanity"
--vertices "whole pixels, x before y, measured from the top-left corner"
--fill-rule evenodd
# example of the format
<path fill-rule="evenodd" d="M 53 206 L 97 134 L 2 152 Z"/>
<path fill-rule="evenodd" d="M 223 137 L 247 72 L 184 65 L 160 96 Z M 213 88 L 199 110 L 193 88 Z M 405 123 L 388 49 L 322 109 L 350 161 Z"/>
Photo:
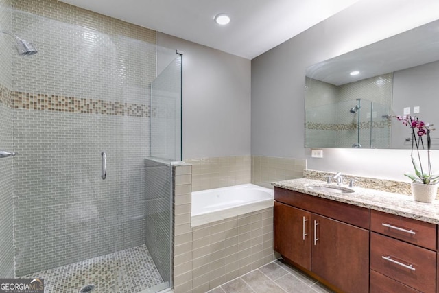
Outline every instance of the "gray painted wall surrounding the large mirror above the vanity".
<path fill-rule="evenodd" d="M 303 146 L 305 69 L 436 19 L 438 1 L 361 0 L 254 58 L 252 155 L 303 158 L 309 169 L 405 180 L 402 174 L 412 170 L 407 150 L 325 149 L 324 158 L 311 158 Z"/>

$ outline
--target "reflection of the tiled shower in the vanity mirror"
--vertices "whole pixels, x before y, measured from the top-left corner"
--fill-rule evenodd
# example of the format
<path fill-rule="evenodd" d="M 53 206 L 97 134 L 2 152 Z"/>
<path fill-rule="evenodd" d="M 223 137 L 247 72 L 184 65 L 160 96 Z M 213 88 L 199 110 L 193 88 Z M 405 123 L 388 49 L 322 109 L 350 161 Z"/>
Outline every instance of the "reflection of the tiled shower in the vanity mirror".
<path fill-rule="evenodd" d="M 336 86 L 307 78 L 305 147 L 389 148 L 392 74 Z"/>

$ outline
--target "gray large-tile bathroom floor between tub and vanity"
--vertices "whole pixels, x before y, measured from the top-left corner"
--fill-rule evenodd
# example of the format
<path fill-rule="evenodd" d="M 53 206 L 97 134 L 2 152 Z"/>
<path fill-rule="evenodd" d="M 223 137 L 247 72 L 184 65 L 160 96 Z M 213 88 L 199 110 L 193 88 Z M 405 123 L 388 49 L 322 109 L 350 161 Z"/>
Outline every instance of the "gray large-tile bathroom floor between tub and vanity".
<path fill-rule="evenodd" d="M 276 260 L 209 293 L 329 293 L 322 283 L 300 270 Z"/>

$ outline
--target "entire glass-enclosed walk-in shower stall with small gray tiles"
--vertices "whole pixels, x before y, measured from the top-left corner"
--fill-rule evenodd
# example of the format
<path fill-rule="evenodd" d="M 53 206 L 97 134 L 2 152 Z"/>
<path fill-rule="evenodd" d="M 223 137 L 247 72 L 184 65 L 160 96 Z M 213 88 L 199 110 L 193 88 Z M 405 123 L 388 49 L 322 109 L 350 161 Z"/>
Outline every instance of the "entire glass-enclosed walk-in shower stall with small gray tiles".
<path fill-rule="evenodd" d="M 16 154 L 0 159 L 0 278 L 42 278 L 45 292 L 171 287 L 182 56 L 60 1 L 0 0 L 0 30 L 0 151 Z"/>

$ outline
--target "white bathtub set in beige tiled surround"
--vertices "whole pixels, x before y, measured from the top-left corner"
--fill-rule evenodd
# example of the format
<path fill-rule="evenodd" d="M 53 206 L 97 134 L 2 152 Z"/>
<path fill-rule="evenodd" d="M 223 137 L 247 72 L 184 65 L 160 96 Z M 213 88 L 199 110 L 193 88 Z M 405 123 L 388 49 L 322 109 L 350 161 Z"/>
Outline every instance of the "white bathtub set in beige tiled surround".
<path fill-rule="evenodd" d="M 274 191 L 253 184 L 235 185 L 192 192 L 192 217 L 228 209 L 273 205 Z M 259 204 L 260 205 L 260 204 Z"/>

